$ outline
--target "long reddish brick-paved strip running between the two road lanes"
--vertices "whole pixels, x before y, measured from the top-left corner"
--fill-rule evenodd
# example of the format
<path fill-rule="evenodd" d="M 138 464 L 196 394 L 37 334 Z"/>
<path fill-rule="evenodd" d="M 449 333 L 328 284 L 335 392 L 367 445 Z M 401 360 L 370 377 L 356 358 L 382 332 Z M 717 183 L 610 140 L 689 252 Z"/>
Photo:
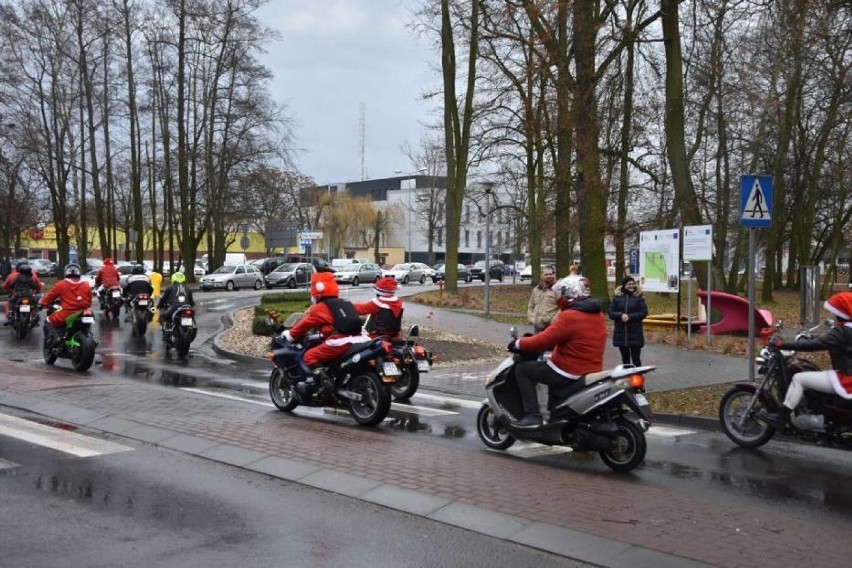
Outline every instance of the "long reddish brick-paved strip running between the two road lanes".
<path fill-rule="evenodd" d="M 308 462 L 533 521 L 722 567 L 845 566 L 850 527 L 777 510 L 718 503 L 642 486 L 629 476 L 556 469 L 454 447 L 431 436 L 341 426 L 128 382 L 31 367 L 0 372 L 0 390 Z M 64 387 L 64 388 L 63 388 Z M 39 392 L 40 391 L 40 392 Z M 576 459 L 576 458 L 574 458 Z M 831 543 L 828 545 L 827 543 Z"/>

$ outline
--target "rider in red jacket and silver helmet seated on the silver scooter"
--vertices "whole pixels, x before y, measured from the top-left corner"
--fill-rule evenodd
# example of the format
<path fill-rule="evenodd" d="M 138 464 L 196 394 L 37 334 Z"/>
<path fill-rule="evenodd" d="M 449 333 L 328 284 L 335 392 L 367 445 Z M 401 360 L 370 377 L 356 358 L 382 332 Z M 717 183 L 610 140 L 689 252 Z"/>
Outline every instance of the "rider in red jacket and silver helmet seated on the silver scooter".
<path fill-rule="evenodd" d="M 559 313 L 547 329 L 513 340 L 512 352 L 541 353 L 552 349 L 546 361 L 523 361 L 515 366 L 518 390 L 524 405 L 524 416 L 515 426 L 534 427 L 542 424 L 535 383 L 562 389 L 564 396 L 582 388 L 580 377 L 603 368 L 606 346 L 606 323 L 601 303 L 591 298 L 592 288 L 584 276 L 566 276 L 554 284 L 559 293 Z M 551 390 L 552 392 L 552 390 Z"/>

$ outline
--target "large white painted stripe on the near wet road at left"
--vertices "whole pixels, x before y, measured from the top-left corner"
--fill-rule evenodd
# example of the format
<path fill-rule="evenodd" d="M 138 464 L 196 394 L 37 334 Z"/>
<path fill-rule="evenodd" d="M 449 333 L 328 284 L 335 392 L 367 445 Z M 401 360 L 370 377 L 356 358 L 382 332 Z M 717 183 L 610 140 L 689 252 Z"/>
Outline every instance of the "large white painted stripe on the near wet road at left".
<path fill-rule="evenodd" d="M 9 436 L 10 438 L 16 438 L 81 458 L 126 452 L 133 449 L 99 438 L 92 438 L 75 432 L 67 432 L 59 428 L 45 426 L 31 420 L 23 420 L 5 414 L 0 414 L 0 435 Z"/>

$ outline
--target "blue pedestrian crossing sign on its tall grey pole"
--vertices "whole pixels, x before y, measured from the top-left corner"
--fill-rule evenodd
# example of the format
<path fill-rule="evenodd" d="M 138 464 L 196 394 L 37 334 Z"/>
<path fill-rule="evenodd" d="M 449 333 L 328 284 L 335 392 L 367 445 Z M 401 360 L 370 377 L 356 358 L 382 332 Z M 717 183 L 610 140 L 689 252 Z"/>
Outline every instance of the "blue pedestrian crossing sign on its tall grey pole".
<path fill-rule="evenodd" d="M 740 176 L 740 226 L 748 228 L 748 378 L 754 382 L 754 229 L 772 226 L 771 176 Z"/>

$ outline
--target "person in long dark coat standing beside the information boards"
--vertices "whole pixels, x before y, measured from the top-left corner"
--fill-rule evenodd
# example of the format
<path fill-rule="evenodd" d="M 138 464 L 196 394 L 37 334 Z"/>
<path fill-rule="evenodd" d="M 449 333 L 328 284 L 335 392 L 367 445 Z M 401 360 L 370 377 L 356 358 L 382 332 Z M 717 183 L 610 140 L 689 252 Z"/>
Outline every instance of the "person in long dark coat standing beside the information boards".
<path fill-rule="evenodd" d="M 621 362 L 625 365 L 642 366 L 640 356 L 645 345 L 642 320 L 647 316 L 648 306 L 636 280 L 625 276 L 609 307 L 609 317 L 615 324 L 612 344 L 621 351 Z"/>

